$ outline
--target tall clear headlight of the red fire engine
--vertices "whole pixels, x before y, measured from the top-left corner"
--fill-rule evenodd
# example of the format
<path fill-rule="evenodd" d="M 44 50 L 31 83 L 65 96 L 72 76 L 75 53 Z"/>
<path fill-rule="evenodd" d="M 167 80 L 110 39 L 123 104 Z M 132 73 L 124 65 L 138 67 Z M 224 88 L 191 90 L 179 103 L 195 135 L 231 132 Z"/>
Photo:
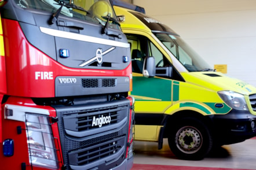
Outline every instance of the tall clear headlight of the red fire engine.
<path fill-rule="evenodd" d="M 57 169 L 57 157 L 48 117 L 26 114 L 25 122 L 30 163 L 38 167 Z"/>

